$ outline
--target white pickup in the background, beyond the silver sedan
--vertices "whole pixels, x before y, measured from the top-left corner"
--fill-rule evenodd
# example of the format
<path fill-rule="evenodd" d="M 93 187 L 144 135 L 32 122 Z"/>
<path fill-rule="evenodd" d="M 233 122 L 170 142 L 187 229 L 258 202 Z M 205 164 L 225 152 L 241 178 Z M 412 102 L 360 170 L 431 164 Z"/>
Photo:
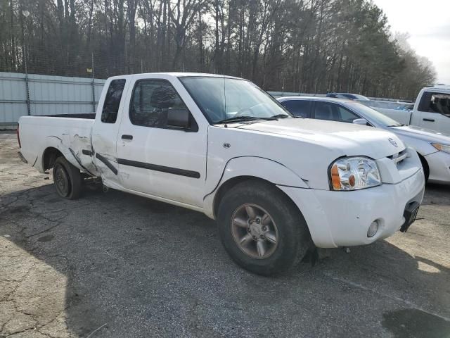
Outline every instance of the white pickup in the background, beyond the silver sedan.
<path fill-rule="evenodd" d="M 361 102 L 366 106 L 371 103 Z M 415 125 L 450 135 L 450 86 L 439 85 L 420 90 L 412 111 L 378 108 L 390 118 L 404 125 Z"/>

